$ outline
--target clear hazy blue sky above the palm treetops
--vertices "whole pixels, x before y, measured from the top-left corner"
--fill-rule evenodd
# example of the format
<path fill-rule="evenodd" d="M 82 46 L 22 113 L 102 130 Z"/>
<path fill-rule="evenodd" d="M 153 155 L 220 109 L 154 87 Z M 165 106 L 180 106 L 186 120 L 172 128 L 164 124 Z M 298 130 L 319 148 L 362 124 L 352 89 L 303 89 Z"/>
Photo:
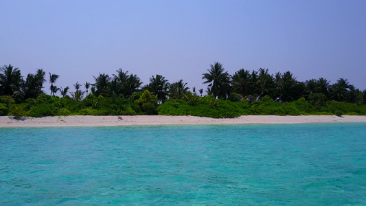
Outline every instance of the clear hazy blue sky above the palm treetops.
<path fill-rule="evenodd" d="M 49 72 L 73 91 L 119 68 L 144 84 L 160 74 L 205 90 L 214 62 L 231 75 L 266 68 L 366 89 L 364 0 L 1 0 L 0 8 L 0 65 L 24 78 L 43 69 L 46 93 Z"/>

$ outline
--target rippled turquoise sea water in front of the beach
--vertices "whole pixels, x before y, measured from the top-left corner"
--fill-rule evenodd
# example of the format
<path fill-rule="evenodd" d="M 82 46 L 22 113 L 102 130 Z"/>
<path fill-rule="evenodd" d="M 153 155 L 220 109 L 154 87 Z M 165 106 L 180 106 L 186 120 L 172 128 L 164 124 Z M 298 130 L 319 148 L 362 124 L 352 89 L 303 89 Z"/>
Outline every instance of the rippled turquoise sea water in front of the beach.
<path fill-rule="evenodd" d="M 366 205 L 366 124 L 0 128 L 0 205 Z"/>

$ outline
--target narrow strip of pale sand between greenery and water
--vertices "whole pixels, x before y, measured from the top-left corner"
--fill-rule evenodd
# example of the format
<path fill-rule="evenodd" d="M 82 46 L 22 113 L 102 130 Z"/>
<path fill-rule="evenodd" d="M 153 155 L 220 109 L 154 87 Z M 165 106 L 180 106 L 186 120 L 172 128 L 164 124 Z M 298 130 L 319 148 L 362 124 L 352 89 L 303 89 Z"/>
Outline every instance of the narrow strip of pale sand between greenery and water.
<path fill-rule="evenodd" d="M 193 116 L 68 116 L 68 117 L 27 117 L 16 120 L 0 117 L 0 127 L 42 127 L 42 126 L 133 126 L 169 124 L 301 124 L 366 122 L 366 116 L 241 116 L 232 119 L 214 119 Z"/>

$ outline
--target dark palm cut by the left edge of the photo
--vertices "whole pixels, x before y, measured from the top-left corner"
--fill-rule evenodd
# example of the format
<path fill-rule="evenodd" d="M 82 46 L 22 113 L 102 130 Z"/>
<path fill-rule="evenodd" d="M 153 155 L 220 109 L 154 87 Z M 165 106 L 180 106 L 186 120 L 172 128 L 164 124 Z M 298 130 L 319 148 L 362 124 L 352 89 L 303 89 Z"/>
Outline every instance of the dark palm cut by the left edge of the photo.
<path fill-rule="evenodd" d="M 22 79 L 21 71 L 12 65 L 4 65 L 0 73 L 0 95 L 12 95 L 15 91 L 20 91 Z"/>

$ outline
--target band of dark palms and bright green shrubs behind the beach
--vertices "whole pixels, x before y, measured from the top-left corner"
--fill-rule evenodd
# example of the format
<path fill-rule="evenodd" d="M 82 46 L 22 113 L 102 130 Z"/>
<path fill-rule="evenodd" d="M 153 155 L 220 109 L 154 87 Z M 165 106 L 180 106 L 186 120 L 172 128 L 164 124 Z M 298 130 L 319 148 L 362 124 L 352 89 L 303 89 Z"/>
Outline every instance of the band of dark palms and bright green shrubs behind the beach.
<path fill-rule="evenodd" d="M 76 82 L 75 91 L 69 92 L 70 87 L 57 87 L 57 74 L 49 73 L 46 94 L 43 69 L 22 76 L 19 68 L 5 65 L 0 71 L 0 115 L 366 115 L 366 90 L 344 78 L 334 84 L 326 78 L 300 82 L 290 71 L 271 74 L 262 68 L 229 74 L 215 62 L 203 73 L 203 95 L 203 89 L 190 90 L 183 80 L 169 82 L 161 75 L 151 76 L 148 84 L 122 69 L 93 77 L 95 82 Z"/>

